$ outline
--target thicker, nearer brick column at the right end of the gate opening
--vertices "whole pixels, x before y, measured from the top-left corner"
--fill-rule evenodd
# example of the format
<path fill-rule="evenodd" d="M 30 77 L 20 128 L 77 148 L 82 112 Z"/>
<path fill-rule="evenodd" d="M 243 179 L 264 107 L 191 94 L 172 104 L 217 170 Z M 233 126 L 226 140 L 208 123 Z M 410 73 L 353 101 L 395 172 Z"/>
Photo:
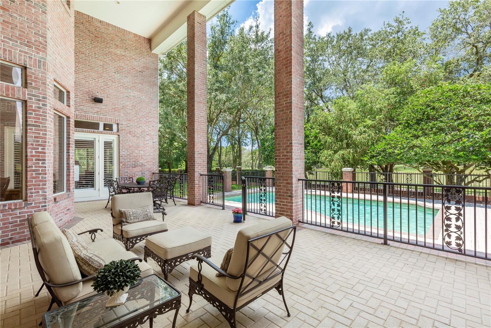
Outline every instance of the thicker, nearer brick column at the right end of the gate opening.
<path fill-rule="evenodd" d="M 302 217 L 303 0 L 274 1 L 275 213 Z"/>

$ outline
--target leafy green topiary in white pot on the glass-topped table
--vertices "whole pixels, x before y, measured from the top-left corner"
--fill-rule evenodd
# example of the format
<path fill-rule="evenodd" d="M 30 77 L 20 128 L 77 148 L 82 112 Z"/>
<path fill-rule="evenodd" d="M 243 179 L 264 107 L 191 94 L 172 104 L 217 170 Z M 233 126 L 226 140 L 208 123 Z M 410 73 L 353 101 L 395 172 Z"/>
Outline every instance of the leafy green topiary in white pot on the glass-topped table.
<path fill-rule="evenodd" d="M 128 290 L 140 278 L 141 270 L 134 261 L 111 261 L 97 271 L 91 287 L 109 296 L 106 306 L 121 305 L 128 298 Z"/>

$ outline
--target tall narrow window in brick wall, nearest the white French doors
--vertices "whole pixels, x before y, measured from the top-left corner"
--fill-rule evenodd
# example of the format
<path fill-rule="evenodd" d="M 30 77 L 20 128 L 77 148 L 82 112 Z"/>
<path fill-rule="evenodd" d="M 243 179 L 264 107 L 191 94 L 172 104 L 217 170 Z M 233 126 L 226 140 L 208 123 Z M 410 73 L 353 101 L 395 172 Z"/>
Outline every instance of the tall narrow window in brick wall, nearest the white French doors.
<path fill-rule="evenodd" d="M 59 194 L 66 191 L 66 117 L 55 112 L 53 125 L 53 194 Z"/>

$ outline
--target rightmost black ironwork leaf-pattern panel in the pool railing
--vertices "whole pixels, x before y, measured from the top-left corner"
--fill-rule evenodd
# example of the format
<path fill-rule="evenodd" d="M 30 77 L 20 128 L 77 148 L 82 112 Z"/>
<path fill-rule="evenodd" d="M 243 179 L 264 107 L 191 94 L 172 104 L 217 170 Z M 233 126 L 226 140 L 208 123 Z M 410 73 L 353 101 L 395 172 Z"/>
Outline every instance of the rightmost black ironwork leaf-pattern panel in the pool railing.
<path fill-rule="evenodd" d="M 464 253 L 464 195 L 463 188 L 443 188 L 443 241 L 460 253 Z"/>

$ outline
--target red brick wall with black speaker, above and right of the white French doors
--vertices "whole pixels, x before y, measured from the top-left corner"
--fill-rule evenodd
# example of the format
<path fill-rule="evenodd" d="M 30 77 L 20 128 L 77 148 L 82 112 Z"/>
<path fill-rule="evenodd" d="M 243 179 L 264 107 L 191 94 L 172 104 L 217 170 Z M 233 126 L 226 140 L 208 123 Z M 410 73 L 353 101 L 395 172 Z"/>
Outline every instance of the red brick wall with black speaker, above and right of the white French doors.
<path fill-rule="evenodd" d="M 119 124 L 120 176 L 158 172 L 158 95 L 150 39 L 76 11 L 75 118 Z"/>

